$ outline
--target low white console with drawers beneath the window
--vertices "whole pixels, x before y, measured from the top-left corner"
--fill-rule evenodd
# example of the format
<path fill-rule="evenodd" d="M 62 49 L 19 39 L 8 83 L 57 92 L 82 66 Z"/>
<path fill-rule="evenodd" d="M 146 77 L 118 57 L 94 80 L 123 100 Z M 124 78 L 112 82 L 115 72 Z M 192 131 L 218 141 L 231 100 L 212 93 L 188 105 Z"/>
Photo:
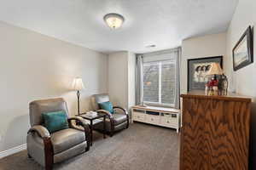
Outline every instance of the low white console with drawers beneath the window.
<path fill-rule="evenodd" d="M 161 127 L 180 127 L 180 111 L 172 108 L 135 105 L 131 108 L 131 122 L 145 122 Z"/>

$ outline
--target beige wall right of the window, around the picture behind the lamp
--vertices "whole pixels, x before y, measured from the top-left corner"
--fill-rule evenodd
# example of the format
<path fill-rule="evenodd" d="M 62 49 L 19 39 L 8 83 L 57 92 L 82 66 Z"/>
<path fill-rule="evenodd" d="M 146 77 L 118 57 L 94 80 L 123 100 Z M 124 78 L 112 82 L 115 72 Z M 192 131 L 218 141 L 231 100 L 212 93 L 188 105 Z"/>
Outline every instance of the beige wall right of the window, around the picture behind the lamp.
<path fill-rule="evenodd" d="M 181 59 L 181 94 L 187 92 L 188 59 L 220 56 L 226 54 L 226 33 L 193 37 L 183 40 Z M 225 57 L 225 56 L 224 56 Z"/>

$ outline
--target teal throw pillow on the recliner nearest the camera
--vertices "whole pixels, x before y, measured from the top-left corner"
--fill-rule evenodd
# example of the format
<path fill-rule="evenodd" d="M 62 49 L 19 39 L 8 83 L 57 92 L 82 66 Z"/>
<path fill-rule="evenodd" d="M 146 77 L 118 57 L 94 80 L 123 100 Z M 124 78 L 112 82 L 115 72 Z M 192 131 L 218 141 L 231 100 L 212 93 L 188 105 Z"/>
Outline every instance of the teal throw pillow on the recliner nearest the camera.
<path fill-rule="evenodd" d="M 49 130 L 49 133 L 68 128 L 67 114 L 65 111 L 55 111 L 42 114 L 44 126 Z"/>

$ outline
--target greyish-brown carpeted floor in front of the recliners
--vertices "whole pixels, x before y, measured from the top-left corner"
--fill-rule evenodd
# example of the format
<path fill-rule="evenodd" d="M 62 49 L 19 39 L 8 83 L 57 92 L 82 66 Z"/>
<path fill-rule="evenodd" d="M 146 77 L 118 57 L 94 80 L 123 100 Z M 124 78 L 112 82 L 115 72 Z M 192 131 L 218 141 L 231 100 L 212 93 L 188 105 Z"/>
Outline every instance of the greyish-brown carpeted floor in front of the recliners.
<path fill-rule="evenodd" d="M 90 151 L 55 164 L 58 170 L 178 170 L 179 135 L 175 130 L 133 123 L 102 139 L 94 133 Z M 26 150 L 0 160 L 0 170 L 44 169 L 27 158 Z"/>

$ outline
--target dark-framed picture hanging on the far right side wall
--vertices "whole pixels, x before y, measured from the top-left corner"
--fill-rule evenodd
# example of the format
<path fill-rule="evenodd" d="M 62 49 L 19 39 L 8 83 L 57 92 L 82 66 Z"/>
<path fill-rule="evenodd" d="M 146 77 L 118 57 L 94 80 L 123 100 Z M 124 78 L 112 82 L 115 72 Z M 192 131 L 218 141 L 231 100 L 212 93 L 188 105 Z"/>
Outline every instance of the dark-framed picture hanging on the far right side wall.
<path fill-rule="evenodd" d="M 253 32 L 251 26 L 247 28 L 236 43 L 232 55 L 234 71 L 253 63 Z"/>

